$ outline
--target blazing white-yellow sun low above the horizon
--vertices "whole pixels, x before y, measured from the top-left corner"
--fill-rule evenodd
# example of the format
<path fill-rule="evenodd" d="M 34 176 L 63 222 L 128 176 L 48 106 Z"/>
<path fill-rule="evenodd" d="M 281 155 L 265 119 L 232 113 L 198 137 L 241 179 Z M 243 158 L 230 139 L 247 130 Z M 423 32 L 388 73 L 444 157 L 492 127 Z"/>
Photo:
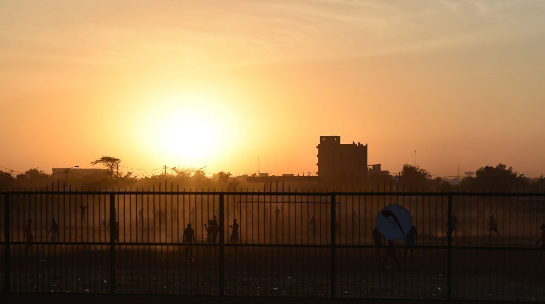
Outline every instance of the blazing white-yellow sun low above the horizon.
<path fill-rule="evenodd" d="M 154 119 L 139 127 L 138 146 L 159 163 L 196 168 L 216 164 L 232 132 L 222 104 L 210 94 L 158 98 L 142 109 L 142 117 Z"/>

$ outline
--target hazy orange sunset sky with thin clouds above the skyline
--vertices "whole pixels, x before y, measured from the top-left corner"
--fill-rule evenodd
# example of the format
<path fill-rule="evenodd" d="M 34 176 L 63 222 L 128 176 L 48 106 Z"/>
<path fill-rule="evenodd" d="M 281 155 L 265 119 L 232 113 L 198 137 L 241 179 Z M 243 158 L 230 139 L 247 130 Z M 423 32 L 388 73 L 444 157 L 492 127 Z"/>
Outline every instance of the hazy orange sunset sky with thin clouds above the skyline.
<path fill-rule="evenodd" d="M 545 1 L 1 1 L 0 166 L 545 174 Z M 141 171 L 136 171 L 141 172 Z M 306 174 L 306 173 L 305 173 Z"/>

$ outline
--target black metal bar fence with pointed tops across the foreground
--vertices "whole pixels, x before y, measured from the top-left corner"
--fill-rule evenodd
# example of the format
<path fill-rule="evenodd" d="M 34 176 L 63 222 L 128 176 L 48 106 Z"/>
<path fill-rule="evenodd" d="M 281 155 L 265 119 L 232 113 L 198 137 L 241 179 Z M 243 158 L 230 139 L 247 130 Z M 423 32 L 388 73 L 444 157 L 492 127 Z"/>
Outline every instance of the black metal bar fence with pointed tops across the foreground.
<path fill-rule="evenodd" d="M 414 245 L 373 237 L 390 204 Z M 543 193 L 57 189 L 0 206 L 3 292 L 545 301 Z"/>

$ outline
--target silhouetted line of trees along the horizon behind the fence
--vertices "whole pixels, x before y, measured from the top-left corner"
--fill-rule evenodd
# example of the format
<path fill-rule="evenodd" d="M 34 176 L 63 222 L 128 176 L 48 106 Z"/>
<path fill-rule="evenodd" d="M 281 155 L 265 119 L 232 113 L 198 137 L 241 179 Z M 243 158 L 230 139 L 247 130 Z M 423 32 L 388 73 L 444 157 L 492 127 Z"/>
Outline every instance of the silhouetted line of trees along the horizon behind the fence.
<path fill-rule="evenodd" d="M 239 189 L 260 188 L 256 183 L 248 183 L 248 175 L 233 176 L 229 172 L 217 172 L 211 177 L 206 172 L 195 168 L 169 168 L 151 176 L 135 176 L 134 172 L 119 170 L 121 160 L 116 157 L 103 156 L 91 162 L 92 165 L 105 168 L 109 176 L 85 176 L 73 177 L 65 180 L 64 174 L 47 174 L 39 168 L 31 168 L 20 174 L 0 171 L 0 189 L 40 189 L 53 185 L 54 187 L 72 187 L 85 189 L 111 189 L 111 188 L 138 188 L 148 189 L 161 184 L 168 187 L 199 188 L 199 189 Z M 61 172 L 62 173 L 62 172 Z M 255 176 L 255 174 L 253 175 Z M 286 185 L 287 186 L 287 185 Z M 300 186 L 300 184 L 298 185 Z M 297 186 L 293 187 L 296 188 Z M 381 190 L 435 190 L 435 191 L 544 191 L 545 177 L 529 178 L 524 174 L 518 174 L 513 168 L 505 164 L 495 166 L 483 166 L 475 172 L 474 176 L 456 177 L 446 180 L 443 177 L 433 177 L 429 171 L 404 164 L 397 176 L 378 174 L 370 171 L 370 175 L 364 181 L 352 182 L 318 182 L 312 184 L 313 189 L 327 188 L 358 188 Z"/>

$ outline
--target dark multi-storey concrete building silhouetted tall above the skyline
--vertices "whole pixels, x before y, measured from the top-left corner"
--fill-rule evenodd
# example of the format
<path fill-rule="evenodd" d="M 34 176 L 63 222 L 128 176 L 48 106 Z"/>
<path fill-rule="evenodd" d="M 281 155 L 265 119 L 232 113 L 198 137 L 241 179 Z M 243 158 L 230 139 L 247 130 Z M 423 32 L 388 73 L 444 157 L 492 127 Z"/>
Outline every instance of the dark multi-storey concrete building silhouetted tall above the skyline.
<path fill-rule="evenodd" d="M 341 144 L 341 136 L 320 136 L 318 172 L 321 180 L 361 181 L 367 177 L 367 144 Z"/>

